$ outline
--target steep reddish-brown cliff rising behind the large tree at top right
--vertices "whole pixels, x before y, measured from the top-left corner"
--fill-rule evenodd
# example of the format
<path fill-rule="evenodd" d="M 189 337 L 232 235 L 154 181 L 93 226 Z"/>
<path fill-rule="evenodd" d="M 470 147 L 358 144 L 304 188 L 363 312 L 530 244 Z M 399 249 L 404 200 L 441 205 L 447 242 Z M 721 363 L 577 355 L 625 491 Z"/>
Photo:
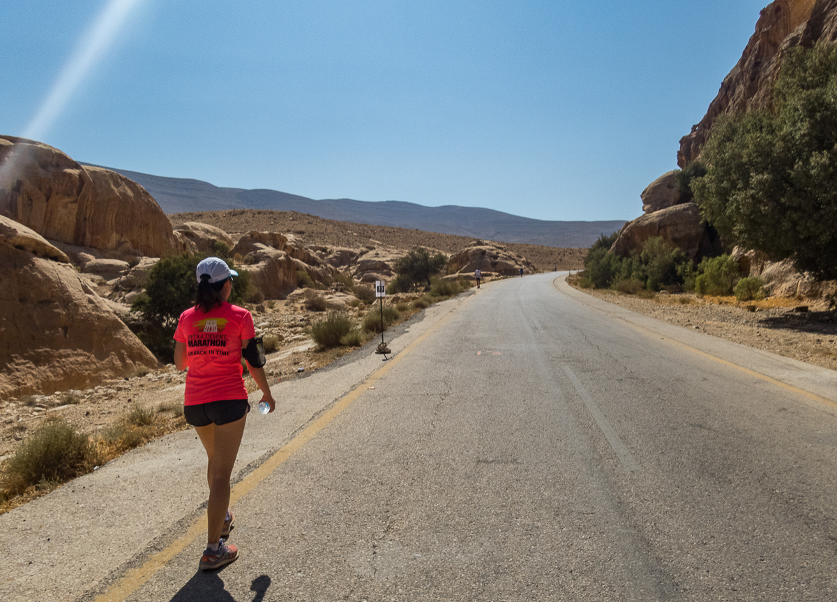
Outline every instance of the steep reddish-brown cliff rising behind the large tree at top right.
<path fill-rule="evenodd" d="M 685 167 L 701 154 L 719 116 L 768 108 L 783 53 L 793 46 L 809 47 L 819 39 L 837 40 L 834 0 L 776 0 L 764 8 L 755 33 L 724 78 L 706 116 L 680 139 L 678 165 Z"/>

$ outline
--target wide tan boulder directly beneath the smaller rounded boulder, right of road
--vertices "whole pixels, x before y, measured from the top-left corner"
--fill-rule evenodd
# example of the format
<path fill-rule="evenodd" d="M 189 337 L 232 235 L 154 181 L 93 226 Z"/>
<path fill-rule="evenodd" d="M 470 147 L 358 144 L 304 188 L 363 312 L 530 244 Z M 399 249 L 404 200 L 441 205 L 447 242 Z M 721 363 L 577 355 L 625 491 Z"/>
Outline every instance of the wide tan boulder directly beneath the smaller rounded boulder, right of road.
<path fill-rule="evenodd" d="M 659 236 L 670 247 L 678 247 L 689 259 L 707 254 L 710 233 L 695 203 L 684 203 L 641 215 L 625 224 L 611 247 L 616 255 L 627 257 L 642 250 L 645 241 Z"/>

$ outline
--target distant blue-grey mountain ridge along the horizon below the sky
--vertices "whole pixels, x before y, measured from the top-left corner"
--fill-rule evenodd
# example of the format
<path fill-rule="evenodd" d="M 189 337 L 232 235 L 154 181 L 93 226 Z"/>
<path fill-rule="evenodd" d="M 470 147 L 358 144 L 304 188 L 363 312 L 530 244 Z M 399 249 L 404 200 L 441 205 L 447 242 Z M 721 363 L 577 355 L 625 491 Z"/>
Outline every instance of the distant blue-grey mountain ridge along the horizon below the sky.
<path fill-rule="evenodd" d="M 551 247 L 588 247 L 600 234 L 610 234 L 624 225 L 624 221 L 620 220 L 559 222 L 529 219 L 494 209 L 457 205 L 425 207 L 403 201 L 356 201 L 352 198 L 315 200 L 276 190 L 218 188 L 201 180 L 163 178 L 126 169 L 106 168 L 140 184 L 157 200 L 166 214 L 236 208 L 274 209 L 357 224 L 394 226 Z"/>

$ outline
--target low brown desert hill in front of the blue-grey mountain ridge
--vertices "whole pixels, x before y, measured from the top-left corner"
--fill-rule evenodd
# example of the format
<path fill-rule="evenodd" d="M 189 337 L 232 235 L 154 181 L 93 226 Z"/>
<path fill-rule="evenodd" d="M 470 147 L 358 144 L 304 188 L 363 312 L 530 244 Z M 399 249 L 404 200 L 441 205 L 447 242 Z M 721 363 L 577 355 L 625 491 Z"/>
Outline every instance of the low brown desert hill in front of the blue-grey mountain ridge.
<path fill-rule="evenodd" d="M 395 228 L 341 222 L 295 211 L 270 211 L 266 209 L 228 209 L 225 211 L 198 211 L 168 216 L 172 226 L 187 222 L 209 224 L 222 229 L 233 239 L 257 230 L 259 232 L 286 232 L 294 234 L 306 246 L 362 247 L 387 246 L 409 250 L 426 247 L 454 255 L 474 241 L 473 237 L 456 234 L 424 232 L 419 229 Z M 542 244 L 501 243 L 506 249 L 523 255 L 540 271 L 580 270 L 587 249 L 548 247 Z"/>

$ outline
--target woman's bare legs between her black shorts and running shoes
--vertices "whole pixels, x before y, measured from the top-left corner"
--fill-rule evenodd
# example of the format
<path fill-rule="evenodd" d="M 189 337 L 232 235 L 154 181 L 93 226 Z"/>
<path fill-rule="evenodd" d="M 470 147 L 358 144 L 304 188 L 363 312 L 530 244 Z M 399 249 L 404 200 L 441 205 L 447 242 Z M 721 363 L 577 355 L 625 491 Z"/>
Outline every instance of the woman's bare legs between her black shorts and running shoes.
<path fill-rule="evenodd" d="M 247 415 L 228 424 L 196 426 L 203 448 L 207 452 L 207 543 L 217 543 L 221 538 L 223 521 L 229 509 L 229 478 L 233 474 L 235 457 L 239 454 L 241 437 Z"/>

